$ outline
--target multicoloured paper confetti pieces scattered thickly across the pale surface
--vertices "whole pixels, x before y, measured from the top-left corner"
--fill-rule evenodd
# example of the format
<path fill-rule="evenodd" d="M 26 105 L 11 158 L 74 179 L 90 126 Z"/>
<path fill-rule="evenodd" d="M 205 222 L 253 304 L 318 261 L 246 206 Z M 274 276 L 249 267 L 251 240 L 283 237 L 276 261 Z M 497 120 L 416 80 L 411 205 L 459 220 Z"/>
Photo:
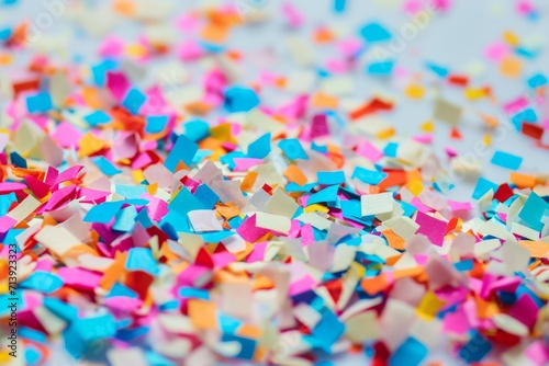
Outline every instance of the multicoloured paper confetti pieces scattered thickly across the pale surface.
<path fill-rule="evenodd" d="M 501 101 L 483 65 L 406 69 L 382 18 L 304 31 L 291 1 L 197 2 L 173 21 L 170 1 L 104 3 L 64 8 L 75 36 L 99 38 L 94 61 L 0 26 L 0 64 L 22 71 L 0 79 L 0 362 L 549 364 L 549 169 L 494 142 L 549 146 L 547 77 L 523 72 L 539 43 L 507 31 L 479 56 L 522 83 Z M 350 3 L 333 1 L 334 19 Z M 402 3 L 413 19 L 455 7 Z M 228 46 L 274 20 L 282 56 Z M 101 34 L 116 22 L 139 35 Z M 358 92 L 357 73 L 391 87 Z M 413 134 L 391 123 L 404 101 L 430 103 Z M 453 147 L 466 117 L 506 182 Z M 468 184 L 471 199 L 452 196 Z"/>

